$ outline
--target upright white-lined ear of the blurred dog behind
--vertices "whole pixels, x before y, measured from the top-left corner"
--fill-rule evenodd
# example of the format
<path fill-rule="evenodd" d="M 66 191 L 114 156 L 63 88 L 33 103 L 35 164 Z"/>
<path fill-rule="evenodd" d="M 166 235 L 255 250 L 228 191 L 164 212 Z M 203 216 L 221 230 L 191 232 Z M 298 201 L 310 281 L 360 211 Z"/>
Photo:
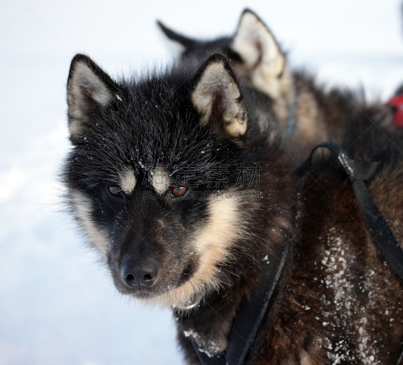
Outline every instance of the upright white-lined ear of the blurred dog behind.
<path fill-rule="evenodd" d="M 259 69 L 260 73 L 274 77 L 284 70 L 286 59 L 272 32 L 248 9 L 242 13 L 232 48 L 250 70 Z"/>

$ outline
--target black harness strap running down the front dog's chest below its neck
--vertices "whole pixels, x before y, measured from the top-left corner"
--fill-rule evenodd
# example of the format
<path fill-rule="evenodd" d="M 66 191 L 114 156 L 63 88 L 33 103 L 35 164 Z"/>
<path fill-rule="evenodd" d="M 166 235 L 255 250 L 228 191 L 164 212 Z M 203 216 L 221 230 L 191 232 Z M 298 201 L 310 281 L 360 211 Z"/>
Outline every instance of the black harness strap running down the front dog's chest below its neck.
<path fill-rule="evenodd" d="M 290 245 L 291 236 L 287 238 L 284 247 L 278 247 L 270 259 L 262 261 L 256 286 L 252 289 L 249 298 L 244 296 L 241 300 L 225 354 L 211 356 L 203 349 L 199 349 L 196 342 L 192 340 L 193 347 L 203 365 L 242 365 L 244 363 L 283 271 Z"/>

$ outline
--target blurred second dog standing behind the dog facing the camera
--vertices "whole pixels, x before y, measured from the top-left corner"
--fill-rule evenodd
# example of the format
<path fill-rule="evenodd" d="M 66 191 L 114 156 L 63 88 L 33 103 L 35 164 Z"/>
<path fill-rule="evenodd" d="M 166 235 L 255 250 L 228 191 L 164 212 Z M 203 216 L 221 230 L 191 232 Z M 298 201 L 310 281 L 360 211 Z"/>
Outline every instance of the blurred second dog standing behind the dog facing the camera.
<path fill-rule="evenodd" d="M 270 98 L 271 112 L 286 136 L 283 146 L 302 163 L 314 146 L 346 137 L 352 113 L 370 109 L 372 122 L 391 125 L 393 109 L 380 102 L 367 105 L 363 92 L 332 88 L 325 91 L 307 72 L 294 71 L 270 29 L 246 9 L 235 33 L 214 40 L 196 40 L 158 22 L 164 33 L 183 50 L 180 59 L 200 63 L 209 54 L 227 55 L 238 78 Z"/>

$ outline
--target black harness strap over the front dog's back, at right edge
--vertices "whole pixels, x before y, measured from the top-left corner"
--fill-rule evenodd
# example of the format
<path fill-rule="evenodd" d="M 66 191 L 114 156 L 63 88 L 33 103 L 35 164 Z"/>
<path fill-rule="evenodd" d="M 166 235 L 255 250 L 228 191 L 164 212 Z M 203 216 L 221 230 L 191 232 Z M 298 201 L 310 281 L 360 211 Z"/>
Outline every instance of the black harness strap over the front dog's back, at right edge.
<path fill-rule="evenodd" d="M 346 156 L 346 153 L 339 145 L 332 142 L 325 142 L 313 149 L 307 160 L 307 165 L 311 163 L 313 153 L 319 147 L 326 147 L 337 155 L 338 160 L 341 162 L 350 178 L 357 204 L 372 239 L 375 241 L 379 251 L 389 263 L 390 267 L 396 272 L 400 279 L 403 280 L 403 249 L 364 184 L 364 180 L 368 181 L 373 178 L 380 163 L 377 161 L 353 161 Z"/>

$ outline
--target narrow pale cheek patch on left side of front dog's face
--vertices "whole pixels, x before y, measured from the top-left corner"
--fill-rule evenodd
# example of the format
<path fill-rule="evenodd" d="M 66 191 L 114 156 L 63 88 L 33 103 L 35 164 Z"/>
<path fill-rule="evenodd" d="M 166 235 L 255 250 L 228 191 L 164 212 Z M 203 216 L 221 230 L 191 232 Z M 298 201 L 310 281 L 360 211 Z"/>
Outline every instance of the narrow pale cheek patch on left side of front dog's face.
<path fill-rule="evenodd" d="M 102 232 L 97 228 L 91 219 L 91 201 L 79 191 L 73 191 L 71 193 L 71 200 L 74 205 L 74 215 L 80 221 L 84 233 L 90 239 L 92 244 L 94 244 L 94 246 L 104 256 L 106 256 L 108 251 L 108 243 Z"/>

